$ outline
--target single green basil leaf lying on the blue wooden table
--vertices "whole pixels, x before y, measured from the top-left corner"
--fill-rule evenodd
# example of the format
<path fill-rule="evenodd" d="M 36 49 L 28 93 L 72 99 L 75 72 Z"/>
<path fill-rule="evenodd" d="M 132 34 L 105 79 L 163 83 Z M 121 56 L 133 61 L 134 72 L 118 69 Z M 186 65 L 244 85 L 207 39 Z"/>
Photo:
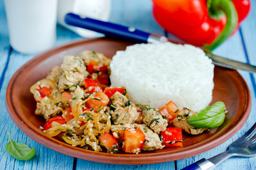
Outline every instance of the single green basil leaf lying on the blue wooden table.
<path fill-rule="evenodd" d="M 21 161 L 27 161 L 36 154 L 35 148 L 31 149 L 23 143 L 14 142 L 11 140 L 10 132 L 8 132 L 8 135 L 10 142 L 6 144 L 6 150 L 11 156 Z"/>

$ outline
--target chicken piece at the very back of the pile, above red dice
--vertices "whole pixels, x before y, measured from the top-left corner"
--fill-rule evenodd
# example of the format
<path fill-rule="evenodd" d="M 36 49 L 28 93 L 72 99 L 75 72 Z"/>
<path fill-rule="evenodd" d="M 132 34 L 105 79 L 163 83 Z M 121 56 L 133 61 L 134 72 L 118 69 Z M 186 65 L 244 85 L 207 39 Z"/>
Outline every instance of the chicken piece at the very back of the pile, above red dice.
<path fill-rule="evenodd" d="M 78 56 L 85 62 L 85 65 L 88 65 L 90 60 L 94 60 L 95 62 L 102 63 L 107 66 L 110 65 L 111 62 L 111 59 L 95 51 L 85 50 L 81 52 Z"/>

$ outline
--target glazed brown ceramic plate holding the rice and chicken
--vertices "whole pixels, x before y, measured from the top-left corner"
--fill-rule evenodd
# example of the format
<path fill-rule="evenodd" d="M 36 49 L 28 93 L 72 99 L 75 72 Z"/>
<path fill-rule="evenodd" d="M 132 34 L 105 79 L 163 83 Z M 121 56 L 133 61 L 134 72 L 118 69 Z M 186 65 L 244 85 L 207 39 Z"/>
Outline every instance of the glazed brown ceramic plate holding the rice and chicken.
<path fill-rule="evenodd" d="M 53 137 L 48 137 L 39 130 L 44 120 L 34 114 L 36 101 L 29 91 L 36 81 L 46 77 L 55 65 L 60 65 L 65 55 L 77 55 L 82 50 L 95 50 L 107 57 L 112 57 L 117 50 L 125 50 L 127 45 L 132 45 L 132 42 L 107 38 L 84 39 L 37 55 L 18 69 L 9 82 L 6 91 L 6 108 L 11 119 L 26 135 L 41 145 L 72 157 L 110 164 L 155 164 L 192 157 L 217 147 L 235 135 L 245 124 L 251 108 L 250 91 L 245 80 L 235 70 L 215 67 L 212 103 L 216 101 L 225 103 L 228 110 L 225 122 L 219 128 L 201 135 L 192 136 L 184 132 L 183 147 L 164 148 L 139 154 L 99 153 L 73 147 Z"/>

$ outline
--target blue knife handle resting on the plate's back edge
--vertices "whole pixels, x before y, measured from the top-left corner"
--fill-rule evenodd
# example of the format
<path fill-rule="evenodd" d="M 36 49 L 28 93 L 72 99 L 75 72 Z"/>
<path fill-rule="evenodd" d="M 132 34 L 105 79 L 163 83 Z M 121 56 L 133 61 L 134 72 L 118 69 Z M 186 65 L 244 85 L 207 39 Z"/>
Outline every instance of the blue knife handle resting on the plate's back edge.
<path fill-rule="evenodd" d="M 81 18 L 75 13 L 67 13 L 65 15 L 65 23 L 71 26 L 77 26 L 80 28 L 85 28 L 87 30 L 94 30 L 98 33 L 103 33 L 115 38 L 124 38 L 137 43 L 148 42 L 150 33 L 146 33 L 142 30 L 137 30 L 135 28 L 129 28 L 127 26 L 120 26 L 115 23 L 99 21 L 92 18 Z"/>

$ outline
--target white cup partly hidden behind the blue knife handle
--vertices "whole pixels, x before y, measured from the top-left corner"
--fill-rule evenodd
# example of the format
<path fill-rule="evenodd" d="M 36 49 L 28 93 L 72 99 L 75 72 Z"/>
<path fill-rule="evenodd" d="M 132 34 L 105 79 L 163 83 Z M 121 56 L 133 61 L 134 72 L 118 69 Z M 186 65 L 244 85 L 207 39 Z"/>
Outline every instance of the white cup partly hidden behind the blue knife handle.
<path fill-rule="evenodd" d="M 75 13 L 82 17 L 108 21 L 110 18 L 111 0 L 58 0 L 57 21 L 61 26 L 73 30 L 84 38 L 102 37 L 101 33 L 85 30 L 75 26 L 68 26 L 64 18 L 67 13 Z"/>

